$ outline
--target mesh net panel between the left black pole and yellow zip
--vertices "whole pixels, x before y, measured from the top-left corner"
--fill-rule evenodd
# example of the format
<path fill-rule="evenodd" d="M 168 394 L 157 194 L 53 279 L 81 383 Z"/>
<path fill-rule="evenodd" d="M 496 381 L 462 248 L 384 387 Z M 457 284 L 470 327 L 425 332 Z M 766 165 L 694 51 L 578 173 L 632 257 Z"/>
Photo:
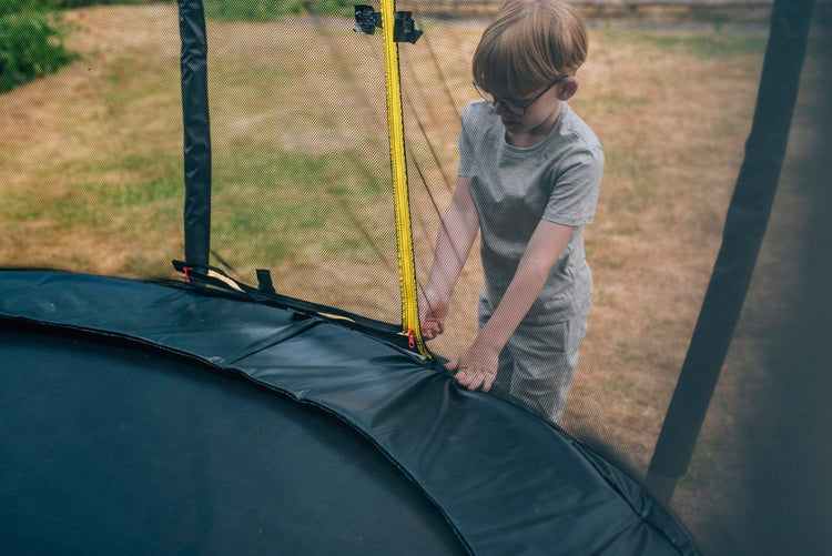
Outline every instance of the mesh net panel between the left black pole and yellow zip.
<path fill-rule="evenodd" d="M 251 22 L 207 6 L 213 256 L 241 281 L 268 269 L 284 295 L 397 322 L 381 34 L 307 8 Z"/>

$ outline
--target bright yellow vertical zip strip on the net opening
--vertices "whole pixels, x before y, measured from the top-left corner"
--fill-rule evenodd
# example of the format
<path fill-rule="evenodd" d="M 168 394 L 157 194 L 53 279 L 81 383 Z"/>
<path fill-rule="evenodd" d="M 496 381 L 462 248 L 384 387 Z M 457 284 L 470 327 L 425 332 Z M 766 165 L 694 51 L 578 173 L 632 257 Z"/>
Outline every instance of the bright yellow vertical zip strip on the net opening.
<path fill-rule="evenodd" d="M 407 161 L 405 132 L 402 117 L 402 83 L 398 71 L 398 44 L 393 40 L 395 0 L 382 0 L 382 32 L 384 36 L 384 73 L 387 84 L 387 127 L 390 140 L 390 170 L 393 196 L 396 208 L 396 237 L 398 241 L 398 275 L 402 283 L 403 334 L 408 335 L 422 355 L 429 352 L 419 330 L 419 311 L 416 295 L 416 269 L 410 229 L 410 203 L 407 194 Z"/>

